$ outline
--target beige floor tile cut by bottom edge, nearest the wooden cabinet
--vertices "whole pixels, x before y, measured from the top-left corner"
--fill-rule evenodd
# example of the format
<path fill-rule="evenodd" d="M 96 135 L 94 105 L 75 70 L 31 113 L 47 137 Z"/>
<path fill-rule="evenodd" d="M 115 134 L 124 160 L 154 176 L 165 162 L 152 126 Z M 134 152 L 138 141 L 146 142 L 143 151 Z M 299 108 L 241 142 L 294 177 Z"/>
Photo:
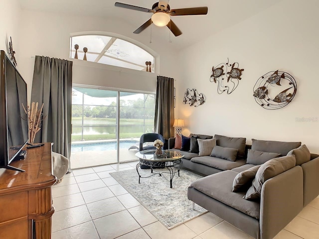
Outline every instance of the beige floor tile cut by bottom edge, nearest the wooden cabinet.
<path fill-rule="evenodd" d="M 52 239 L 99 239 L 99 236 L 91 221 L 52 233 Z"/>

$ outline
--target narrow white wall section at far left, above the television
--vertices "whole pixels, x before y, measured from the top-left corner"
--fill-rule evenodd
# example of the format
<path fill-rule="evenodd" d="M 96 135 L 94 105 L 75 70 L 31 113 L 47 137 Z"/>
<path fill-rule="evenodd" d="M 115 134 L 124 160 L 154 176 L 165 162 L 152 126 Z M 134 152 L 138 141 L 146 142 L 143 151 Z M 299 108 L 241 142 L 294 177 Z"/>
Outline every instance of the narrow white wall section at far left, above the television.
<path fill-rule="evenodd" d="M 0 14 L 0 50 L 8 54 L 10 36 L 12 37 L 13 50 L 16 52 L 15 59 L 18 63 L 20 59 L 19 49 L 19 18 L 20 5 L 17 0 L 1 0 Z"/>

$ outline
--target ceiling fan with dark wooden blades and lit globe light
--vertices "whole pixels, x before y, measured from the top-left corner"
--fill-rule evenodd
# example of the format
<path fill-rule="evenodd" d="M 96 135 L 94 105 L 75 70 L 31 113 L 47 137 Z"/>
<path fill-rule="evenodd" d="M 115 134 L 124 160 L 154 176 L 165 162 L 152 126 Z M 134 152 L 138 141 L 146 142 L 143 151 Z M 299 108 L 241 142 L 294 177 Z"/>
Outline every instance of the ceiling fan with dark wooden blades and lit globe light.
<path fill-rule="evenodd" d="M 175 35 L 179 36 L 182 32 L 175 25 L 175 23 L 170 19 L 170 16 L 184 16 L 184 15 L 206 15 L 208 11 L 207 6 L 202 7 L 191 7 L 191 8 L 180 8 L 180 9 L 170 9 L 168 5 L 169 0 L 162 0 L 153 4 L 152 9 L 144 8 L 141 6 L 134 6 L 126 3 L 115 2 L 115 6 L 128 8 L 131 10 L 144 11 L 153 13 L 151 19 L 145 22 L 142 26 L 134 31 L 138 34 L 145 30 L 152 22 L 157 26 L 167 26 L 170 31 Z"/>

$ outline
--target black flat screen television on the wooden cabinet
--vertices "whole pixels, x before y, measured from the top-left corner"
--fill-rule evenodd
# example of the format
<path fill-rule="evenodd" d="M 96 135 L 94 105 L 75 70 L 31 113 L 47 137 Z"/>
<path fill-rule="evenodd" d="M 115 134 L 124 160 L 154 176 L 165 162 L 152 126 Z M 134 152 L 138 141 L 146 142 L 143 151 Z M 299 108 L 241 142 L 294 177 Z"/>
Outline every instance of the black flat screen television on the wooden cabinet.
<path fill-rule="evenodd" d="M 28 141 L 26 83 L 2 50 L 0 64 L 0 168 L 24 171 L 9 163 Z"/>

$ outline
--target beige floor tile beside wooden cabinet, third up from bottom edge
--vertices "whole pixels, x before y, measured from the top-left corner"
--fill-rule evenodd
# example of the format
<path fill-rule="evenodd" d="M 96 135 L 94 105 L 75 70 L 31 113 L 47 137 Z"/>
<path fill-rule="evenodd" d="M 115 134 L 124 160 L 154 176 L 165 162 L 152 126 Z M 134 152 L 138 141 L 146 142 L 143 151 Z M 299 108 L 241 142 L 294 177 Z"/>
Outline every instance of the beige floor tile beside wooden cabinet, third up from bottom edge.
<path fill-rule="evenodd" d="M 55 212 L 68 208 L 77 207 L 84 204 L 85 202 L 83 200 L 81 193 L 71 194 L 53 199 L 53 206 L 55 208 Z"/>

